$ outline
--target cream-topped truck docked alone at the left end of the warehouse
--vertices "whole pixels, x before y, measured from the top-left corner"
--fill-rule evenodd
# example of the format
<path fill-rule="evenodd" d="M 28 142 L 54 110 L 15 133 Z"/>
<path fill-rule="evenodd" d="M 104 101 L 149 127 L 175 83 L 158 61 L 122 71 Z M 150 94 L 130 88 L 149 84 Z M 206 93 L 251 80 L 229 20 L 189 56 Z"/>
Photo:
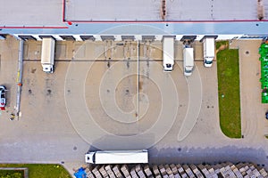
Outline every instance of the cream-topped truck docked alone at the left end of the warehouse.
<path fill-rule="evenodd" d="M 41 64 L 46 73 L 54 72 L 54 38 L 44 37 L 42 39 Z"/>

